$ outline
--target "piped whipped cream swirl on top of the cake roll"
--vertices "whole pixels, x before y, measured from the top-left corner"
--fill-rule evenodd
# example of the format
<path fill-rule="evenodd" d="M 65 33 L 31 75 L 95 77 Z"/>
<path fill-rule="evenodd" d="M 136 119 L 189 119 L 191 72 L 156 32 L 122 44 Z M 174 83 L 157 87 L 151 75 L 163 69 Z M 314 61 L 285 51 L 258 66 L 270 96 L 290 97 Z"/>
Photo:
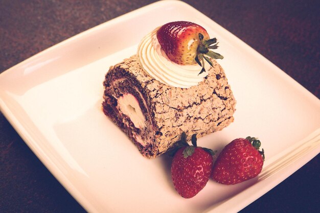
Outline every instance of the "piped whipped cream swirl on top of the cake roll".
<path fill-rule="evenodd" d="M 199 64 L 180 65 L 172 62 L 158 42 L 158 29 L 147 34 L 138 46 L 139 61 L 145 72 L 155 80 L 173 87 L 189 88 L 198 85 L 208 75 L 208 71 L 198 75 L 202 68 Z M 204 63 L 204 68 L 209 70 L 210 64 Z"/>

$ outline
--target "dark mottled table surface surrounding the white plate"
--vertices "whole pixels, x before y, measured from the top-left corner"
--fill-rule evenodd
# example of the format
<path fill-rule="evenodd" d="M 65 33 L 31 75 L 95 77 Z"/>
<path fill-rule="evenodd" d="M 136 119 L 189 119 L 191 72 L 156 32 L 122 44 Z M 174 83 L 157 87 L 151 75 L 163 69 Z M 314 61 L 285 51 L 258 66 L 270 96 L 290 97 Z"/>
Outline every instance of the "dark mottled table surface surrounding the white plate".
<path fill-rule="evenodd" d="M 105 21 L 155 1 L 0 0 L 0 73 Z M 316 1 L 185 1 L 319 98 Z M 192 15 L 192 14 L 191 14 Z M 320 212 L 319 155 L 241 212 Z M 0 212 L 85 212 L 0 113 Z"/>

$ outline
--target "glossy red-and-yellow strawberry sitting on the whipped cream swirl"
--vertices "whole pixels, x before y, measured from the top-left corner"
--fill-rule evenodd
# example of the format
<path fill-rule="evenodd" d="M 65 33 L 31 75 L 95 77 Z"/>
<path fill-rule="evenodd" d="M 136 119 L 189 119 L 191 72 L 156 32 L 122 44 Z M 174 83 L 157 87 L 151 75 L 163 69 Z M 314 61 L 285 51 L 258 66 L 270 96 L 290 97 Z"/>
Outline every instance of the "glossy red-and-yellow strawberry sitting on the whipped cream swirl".
<path fill-rule="evenodd" d="M 198 63 L 202 66 L 200 60 L 202 64 L 206 60 L 212 65 L 207 56 L 214 59 L 223 58 L 220 54 L 210 50 L 218 48 L 217 39 L 209 39 L 207 31 L 193 22 L 174 21 L 166 23 L 158 29 L 157 39 L 168 58 L 180 65 Z M 204 68 L 202 68 L 201 73 L 204 71 Z"/>

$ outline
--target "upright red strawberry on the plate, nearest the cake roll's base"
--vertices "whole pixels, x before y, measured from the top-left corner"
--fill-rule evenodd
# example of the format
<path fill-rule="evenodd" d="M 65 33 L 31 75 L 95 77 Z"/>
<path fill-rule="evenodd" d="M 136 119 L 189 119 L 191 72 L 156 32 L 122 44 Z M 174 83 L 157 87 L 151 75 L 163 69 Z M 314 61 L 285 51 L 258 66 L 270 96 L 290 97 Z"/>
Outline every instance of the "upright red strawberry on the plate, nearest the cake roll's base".
<path fill-rule="evenodd" d="M 181 140 L 185 140 L 182 134 Z M 181 147 L 175 153 L 171 175 L 175 190 L 184 198 L 192 198 L 207 184 L 213 165 L 212 151 L 197 147 L 196 135 L 192 135 L 192 144 Z"/>

